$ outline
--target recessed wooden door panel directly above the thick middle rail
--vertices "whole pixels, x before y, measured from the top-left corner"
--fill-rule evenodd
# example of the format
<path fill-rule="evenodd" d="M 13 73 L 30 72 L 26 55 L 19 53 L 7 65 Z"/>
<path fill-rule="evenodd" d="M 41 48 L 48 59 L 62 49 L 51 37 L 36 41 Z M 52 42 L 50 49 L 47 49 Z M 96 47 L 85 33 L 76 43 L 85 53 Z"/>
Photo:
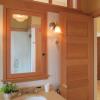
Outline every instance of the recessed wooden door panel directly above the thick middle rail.
<path fill-rule="evenodd" d="M 67 58 L 87 58 L 88 45 L 78 43 L 67 43 Z"/>

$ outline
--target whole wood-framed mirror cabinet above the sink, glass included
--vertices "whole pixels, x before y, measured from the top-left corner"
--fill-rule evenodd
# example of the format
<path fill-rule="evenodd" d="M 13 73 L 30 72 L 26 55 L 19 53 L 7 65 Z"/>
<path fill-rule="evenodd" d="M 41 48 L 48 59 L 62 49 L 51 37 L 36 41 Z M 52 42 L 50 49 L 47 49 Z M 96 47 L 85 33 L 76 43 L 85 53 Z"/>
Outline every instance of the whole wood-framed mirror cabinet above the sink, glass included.
<path fill-rule="evenodd" d="M 46 14 L 7 9 L 6 25 L 4 79 L 47 78 Z"/>

